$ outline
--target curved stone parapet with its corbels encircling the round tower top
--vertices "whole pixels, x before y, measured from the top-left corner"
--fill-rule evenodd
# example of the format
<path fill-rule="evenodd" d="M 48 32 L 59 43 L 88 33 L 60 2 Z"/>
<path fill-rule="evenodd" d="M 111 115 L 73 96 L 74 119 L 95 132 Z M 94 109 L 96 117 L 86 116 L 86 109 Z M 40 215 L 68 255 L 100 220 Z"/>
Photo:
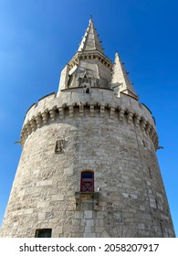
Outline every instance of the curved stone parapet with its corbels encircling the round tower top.
<path fill-rule="evenodd" d="M 105 118 L 118 119 L 135 125 L 143 133 L 149 135 L 155 150 L 158 147 L 158 135 L 149 110 L 130 96 L 113 97 L 113 91 L 92 89 L 91 93 L 84 93 L 82 89 L 61 91 L 58 97 L 50 94 L 26 113 L 26 119 L 21 132 L 21 144 L 25 144 L 29 134 L 49 123 L 60 123 L 66 118 Z"/>

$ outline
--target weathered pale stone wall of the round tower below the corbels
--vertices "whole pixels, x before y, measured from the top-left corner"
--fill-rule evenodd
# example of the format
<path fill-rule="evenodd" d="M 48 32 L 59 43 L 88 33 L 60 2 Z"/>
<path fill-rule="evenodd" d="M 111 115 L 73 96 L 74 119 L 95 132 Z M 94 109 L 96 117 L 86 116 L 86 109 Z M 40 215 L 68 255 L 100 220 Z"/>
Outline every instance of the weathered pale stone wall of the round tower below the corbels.
<path fill-rule="evenodd" d="M 52 226 L 53 236 L 60 237 L 78 237 L 74 227 L 84 228 L 78 230 L 83 237 L 161 237 L 162 229 L 164 236 L 173 236 L 152 140 L 133 127 L 117 118 L 110 123 L 99 117 L 67 116 L 63 123 L 49 123 L 30 134 L 18 165 L 2 236 L 25 236 L 26 231 L 26 237 L 34 237 L 36 229 Z M 57 155 L 54 146 L 60 133 L 66 146 L 64 154 Z M 141 144 L 143 136 L 147 148 Z M 74 195 L 80 189 L 83 170 L 94 171 L 95 191 L 100 188 L 98 211 L 75 209 Z M 161 213 L 165 216 L 162 229 Z"/>

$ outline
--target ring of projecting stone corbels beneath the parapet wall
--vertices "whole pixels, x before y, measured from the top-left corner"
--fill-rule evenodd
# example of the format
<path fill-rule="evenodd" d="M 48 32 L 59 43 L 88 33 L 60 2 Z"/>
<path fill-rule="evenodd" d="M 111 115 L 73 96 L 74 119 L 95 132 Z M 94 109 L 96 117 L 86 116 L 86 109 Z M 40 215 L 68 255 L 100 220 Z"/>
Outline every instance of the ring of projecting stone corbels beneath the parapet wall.
<path fill-rule="evenodd" d="M 117 118 L 120 122 L 125 118 L 128 125 L 134 123 L 136 128 L 140 128 L 143 133 L 150 136 L 155 150 L 157 149 L 158 136 L 154 127 L 137 112 L 133 112 L 130 109 L 122 109 L 119 105 L 111 106 L 109 103 L 99 104 L 99 102 L 95 102 L 89 104 L 89 102 L 81 101 L 79 103 L 73 102 L 71 105 L 64 103 L 62 106 L 53 106 L 51 109 L 46 109 L 44 112 L 38 112 L 37 116 L 33 116 L 31 120 L 28 120 L 24 124 L 21 132 L 21 144 L 23 145 L 25 143 L 28 135 L 44 125 L 55 122 L 56 119 L 63 120 L 67 115 L 69 118 L 73 118 L 75 112 L 79 112 L 79 117 L 85 117 L 87 109 L 90 117 L 95 117 L 97 110 L 100 118 L 108 118 L 105 116 L 105 112 L 108 109 L 110 111 L 109 118 Z M 115 112 L 119 112 L 119 114 L 117 115 Z"/>

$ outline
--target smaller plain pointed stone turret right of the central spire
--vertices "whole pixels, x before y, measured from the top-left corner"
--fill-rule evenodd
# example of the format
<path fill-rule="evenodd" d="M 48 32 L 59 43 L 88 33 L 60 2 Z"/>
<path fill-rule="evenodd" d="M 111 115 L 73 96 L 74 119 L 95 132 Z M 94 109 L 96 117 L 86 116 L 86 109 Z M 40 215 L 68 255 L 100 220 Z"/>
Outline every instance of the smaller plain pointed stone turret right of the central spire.
<path fill-rule="evenodd" d="M 133 89 L 131 80 L 129 79 L 128 73 L 126 72 L 123 63 L 121 62 L 118 53 L 115 54 L 115 61 L 113 66 L 112 84 L 119 84 L 120 92 L 130 95 L 131 97 L 138 100 L 138 96 Z"/>

